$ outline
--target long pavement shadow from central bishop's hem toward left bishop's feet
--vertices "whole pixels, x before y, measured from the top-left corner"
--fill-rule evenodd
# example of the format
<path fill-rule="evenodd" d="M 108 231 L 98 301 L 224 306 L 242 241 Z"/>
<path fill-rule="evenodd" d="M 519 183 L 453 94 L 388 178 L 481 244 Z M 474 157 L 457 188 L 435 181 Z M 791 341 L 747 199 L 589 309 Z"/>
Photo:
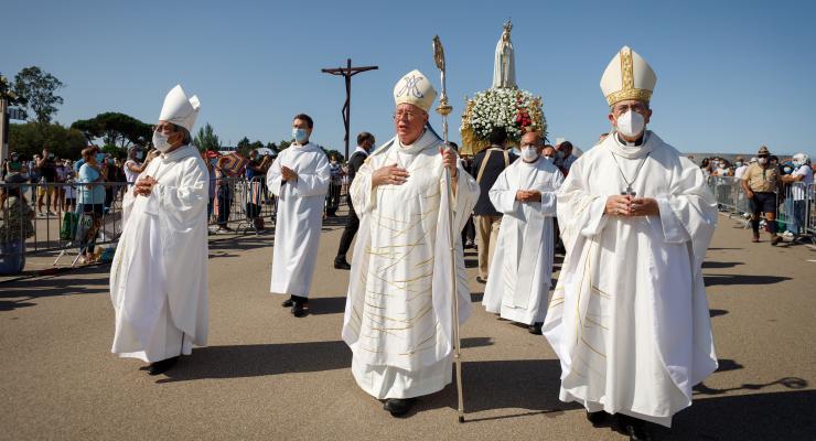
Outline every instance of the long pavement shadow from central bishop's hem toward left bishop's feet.
<path fill-rule="evenodd" d="M 157 383 L 243 378 L 344 369 L 352 353 L 342 341 L 207 346 L 193 349 Z"/>

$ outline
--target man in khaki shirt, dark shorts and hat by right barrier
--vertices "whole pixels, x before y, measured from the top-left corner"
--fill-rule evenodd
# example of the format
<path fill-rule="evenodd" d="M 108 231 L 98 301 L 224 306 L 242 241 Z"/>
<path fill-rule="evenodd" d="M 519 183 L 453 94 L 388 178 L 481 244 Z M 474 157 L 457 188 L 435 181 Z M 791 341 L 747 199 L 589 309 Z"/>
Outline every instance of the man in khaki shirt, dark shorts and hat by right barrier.
<path fill-rule="evenodd" d="M 776 235 L 776 189 L 780 186 L 780 169 L 771 164 L 771 152 L 762 146 L 756 154 L 756 163 L 751 164 L 742 175 L 742 191 L 751 207 L 751 241 L 760 241 L 760 213 L 765 213 L 765 223 L 771 233 L 771 245 L 776 245 L 782 237 Z"/>

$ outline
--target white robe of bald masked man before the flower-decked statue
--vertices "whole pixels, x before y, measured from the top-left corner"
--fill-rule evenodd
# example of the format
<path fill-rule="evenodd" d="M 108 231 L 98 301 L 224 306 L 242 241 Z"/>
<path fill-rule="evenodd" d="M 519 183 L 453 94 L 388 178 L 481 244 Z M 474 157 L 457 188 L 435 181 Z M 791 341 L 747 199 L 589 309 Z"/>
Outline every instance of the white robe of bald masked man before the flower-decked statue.
<path fill-rule="evenodd" d="M 490 191 L 502 228 L 493 254 L 482 304 L 488 312 L 518 323 L 543 322 L 552 277 L 556 192 L 563 175 L 551 162 L 515 161 Z M 516 201 L 519 190 L 541 193 L 541 202 Z"/>

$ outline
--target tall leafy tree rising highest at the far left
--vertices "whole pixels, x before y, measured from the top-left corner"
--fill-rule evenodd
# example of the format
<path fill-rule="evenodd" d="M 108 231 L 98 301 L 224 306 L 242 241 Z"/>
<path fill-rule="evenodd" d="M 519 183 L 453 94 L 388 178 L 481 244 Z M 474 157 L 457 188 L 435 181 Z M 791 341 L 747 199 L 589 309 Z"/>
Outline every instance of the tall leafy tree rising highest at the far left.
<path fill-rule="evenodd" d="M 25 67 L 14 76 L 18 104 L 29 110 L 29 115 L 34 115 L 35 121 L 40 123 L 51 122 L 56 114 L 56 106 L 63 104 L 63 98 L 56 95 L 63 86 L 54 75 L 37 66 Z"/>

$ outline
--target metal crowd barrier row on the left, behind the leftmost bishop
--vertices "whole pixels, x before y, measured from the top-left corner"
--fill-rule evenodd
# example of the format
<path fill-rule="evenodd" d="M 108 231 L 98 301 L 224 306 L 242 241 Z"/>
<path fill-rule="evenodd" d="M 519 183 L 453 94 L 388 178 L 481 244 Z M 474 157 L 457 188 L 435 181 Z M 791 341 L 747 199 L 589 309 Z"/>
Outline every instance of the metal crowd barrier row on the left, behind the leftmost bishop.
<path fill-rule="evenodd" d="M 85 203 L 79 197 L 83 185 L 88 184 L 0 183 L 0 190 L 19 189 L 24 198 L 24 202 L 20 200 L 21 202 L 14 203 L 13 206 L 11 198 L 0 201 L 0 272 L 3 263 L 10 261 L 13 256 L 22 256 L 24 259 L 24 256 L 53 254 L 56 256 L 54 265 L 62 256 L 72 251 L 75 251 L 78 258 L 83 243 L 77 240 L 76 230 L 83 220 L 79 214 Z M 95 245 L 101 246 L 101 249 L 108 248 L 107 246 L 115 244 L 121 235 L 122 195 L 132 184 L 106 182 L 89 185 L 105 187 L 103 214 L 94 215 L 93 219 L 96 220 L 95 225 L 98 225 L 98 228 L 94 228 L 97 230 Z M 266 176 L 256 176 L 251 180 L 213 179 L 208 193 L 211 201 L 207 223 L 213 234 L 227 233 L 237 236 L 260 234 L 275 228 L 277 198 L 267 189 Z M 37 214 L 40 194 L 43 195 L 42 215 Z M 345 204 L 345 195 L 344 185 L 330 185 L 324 214 L 333 214 Z M 33 217 L 30 217 L 32 214 Z M 23 234 L 21 232 L 28 230 L 28 225 L 31 225 L 31 237 L 21 238 Z M 74 263 L 76 260 L 75 258 Z"/>

